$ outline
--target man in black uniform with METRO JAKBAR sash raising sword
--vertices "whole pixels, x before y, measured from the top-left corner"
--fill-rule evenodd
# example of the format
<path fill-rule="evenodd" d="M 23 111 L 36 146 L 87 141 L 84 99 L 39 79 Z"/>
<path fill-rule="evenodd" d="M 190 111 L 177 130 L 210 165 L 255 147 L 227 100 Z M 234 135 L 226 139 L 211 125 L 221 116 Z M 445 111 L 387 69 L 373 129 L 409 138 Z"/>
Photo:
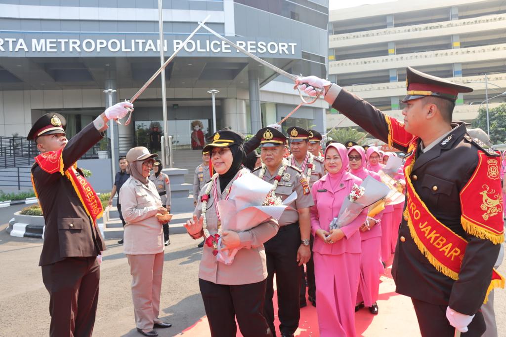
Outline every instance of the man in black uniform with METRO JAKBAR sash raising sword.
<path fill-rule="evenodd" d="M 503 241 L 500 157 L 452 122 L 460 92 L 472 88 L 406 69 L 404 121 L 339 85 L 310 76 L 299 88 L 324 88 L 334 109 L 406 154 L 406 204 L 392 276 L 411 297 L 421 335 L 481 336 L 480 307 L 504 278 L 493 270 Z"/>

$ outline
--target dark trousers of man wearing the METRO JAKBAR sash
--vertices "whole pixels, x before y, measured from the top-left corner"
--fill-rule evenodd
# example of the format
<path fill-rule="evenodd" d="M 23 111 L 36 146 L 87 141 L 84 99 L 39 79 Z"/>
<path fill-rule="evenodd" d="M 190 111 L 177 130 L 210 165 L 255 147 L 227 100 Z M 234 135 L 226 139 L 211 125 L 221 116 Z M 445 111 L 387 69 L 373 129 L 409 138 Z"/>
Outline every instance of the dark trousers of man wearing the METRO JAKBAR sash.
<path fill-rule="evenodd" d="M 411 298 L 422 337 L 453 337 L 455 328 L 446 318 L 446 305 L 436 305 Z M 480 337 L 486 330 L 483 314 L 478 311 L 462 337 Z"/>

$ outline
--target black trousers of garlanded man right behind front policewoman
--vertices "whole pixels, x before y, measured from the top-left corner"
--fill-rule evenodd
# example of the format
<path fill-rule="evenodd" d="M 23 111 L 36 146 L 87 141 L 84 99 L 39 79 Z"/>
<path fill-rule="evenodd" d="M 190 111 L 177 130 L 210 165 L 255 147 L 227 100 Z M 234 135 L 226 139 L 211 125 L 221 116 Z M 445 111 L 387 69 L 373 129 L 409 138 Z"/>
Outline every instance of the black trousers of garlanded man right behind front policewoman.
<path fill-rule="evenodd" d="M 274 274 L 278 292 L 279 331 L 294 333 L 299 326 L 301 311 L 299 308 L 299 289 L 301 286 L 301 268 L 297 262 L 297 251 L 301 245 L 299 223 L 279 227 L 277 234 L 265 244 L 267 255 L 267 289 L 265 292 L 264 316 L 276 335 L 274 327 Z"/>

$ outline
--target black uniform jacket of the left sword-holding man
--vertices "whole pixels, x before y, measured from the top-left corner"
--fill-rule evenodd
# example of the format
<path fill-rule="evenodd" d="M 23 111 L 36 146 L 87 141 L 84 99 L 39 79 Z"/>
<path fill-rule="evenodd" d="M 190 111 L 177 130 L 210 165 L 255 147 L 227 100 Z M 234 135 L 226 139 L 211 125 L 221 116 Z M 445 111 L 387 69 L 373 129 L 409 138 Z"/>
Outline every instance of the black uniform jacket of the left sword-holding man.
<path fill-rule="evenodd" d="M 93 123 L 72 137 L 62 152 L 63 170 L 66 171 L 102 137 L 103 133 Z M 50 174 L 44 171 L 37 163 L 33 164 L 31 173 L 46 222 L 39 266 L 67 257 L 97 256 L 105 250 L 100 230 L 93 225 L 70 180 L 60 172 Z"/>

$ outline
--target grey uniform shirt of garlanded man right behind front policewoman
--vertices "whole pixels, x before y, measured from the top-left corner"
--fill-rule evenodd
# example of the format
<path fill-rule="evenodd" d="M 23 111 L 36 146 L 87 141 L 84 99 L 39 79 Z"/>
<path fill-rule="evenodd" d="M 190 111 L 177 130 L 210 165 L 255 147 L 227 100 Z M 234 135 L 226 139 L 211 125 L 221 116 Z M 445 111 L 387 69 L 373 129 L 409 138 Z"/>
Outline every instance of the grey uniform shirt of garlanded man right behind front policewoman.
<path fill-rule="evenodd" d="M 261 171 L 262 168 L 260 167 L 252 173 L 259 177 Z M 274 178 L 277 176 L 278 171 L 279 168 L 276 170 L 274 175 L 271 175 L 269 170 L 266 169 L 263 179 L 271 184 L 274 184 Z M 293 191 L 296 191 L 297 199 L 289 205 L 293 209 L 287 209 L 283 212 L 281 218 L 278 220 L 279 226 L 286 226 L 299 221 L 299 212 L 297 212 L 297 210 L 314 205 L 313 197 L 311 196 L 311 189 L 309 186 L 307 186 L 307 188 L 304 187 L 304 185 L 307 184 L 305 180 L 306 176 L 299 169 L 291 165 L 286 167 L 286 170 L 281 176 L 281 180 L 278 182 L 278 186 L 276 187 L 274 193 L 277 197 L 284 201 L 292 194 Z"/>

